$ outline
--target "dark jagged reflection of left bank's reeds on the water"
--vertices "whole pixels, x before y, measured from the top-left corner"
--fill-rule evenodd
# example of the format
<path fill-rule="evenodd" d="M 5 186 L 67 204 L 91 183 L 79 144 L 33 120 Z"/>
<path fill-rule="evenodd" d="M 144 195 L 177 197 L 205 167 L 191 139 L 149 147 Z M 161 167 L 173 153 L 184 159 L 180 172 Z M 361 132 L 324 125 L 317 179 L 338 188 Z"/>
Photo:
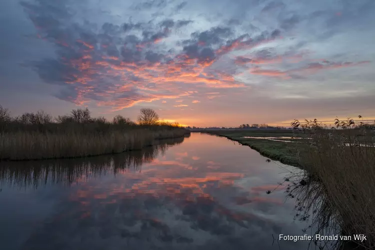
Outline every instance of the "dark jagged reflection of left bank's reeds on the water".
<path fill-rule="evenodd" d="M 89 158 L 46 159 L 38 161 L 7 161 L 0 163 L 0 186 L 4 184 L 34 186 L 42 184 L 71 184 L 84 178 L 126 169 L 139 169 L 164 153 L 168 147 L 183 141 L 183 137 L 160 139 L 142 150 L 101 155 Z"/>

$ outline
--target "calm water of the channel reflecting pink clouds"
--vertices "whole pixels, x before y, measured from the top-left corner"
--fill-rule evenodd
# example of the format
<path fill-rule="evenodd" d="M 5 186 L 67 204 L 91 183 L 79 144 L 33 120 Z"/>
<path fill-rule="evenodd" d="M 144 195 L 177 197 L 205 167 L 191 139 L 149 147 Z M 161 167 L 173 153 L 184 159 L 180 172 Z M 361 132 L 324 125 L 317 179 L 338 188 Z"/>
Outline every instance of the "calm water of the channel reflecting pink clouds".
<path fill-rule="evenodd" d="M 265 193 L 285 176 L 265 159 L 193 133 L 126 154 L 2 163 L 0 249 L 307 249 L 272 245 L 306 222 L 283 190 Z"/>

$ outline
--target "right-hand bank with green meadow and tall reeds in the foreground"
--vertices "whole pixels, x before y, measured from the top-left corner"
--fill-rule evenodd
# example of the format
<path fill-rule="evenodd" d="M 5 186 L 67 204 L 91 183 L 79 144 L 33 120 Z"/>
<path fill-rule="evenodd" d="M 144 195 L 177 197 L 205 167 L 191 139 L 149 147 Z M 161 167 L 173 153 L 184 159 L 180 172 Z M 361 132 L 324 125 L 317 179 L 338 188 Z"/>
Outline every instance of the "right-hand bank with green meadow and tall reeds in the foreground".
<path fill-rule="evenodd" d="M 327 226 L 339 228 L 341 235 L 352 237 L 351 242 L 360 246 L 358 249 L 373 249 L 375 125 L 357 125 L 351 119 L 337 120 L 335 129 L 326 129 L 317 121 L 307 121 L 303 126 L 299 122 L 295 124 L 296 128 L 300 128 L 297 133 L 289 130 L 288 134 L 281 136 L 296 138 L 279 138 L 281 141 L 243 138 L 280 137 L 277 135 L 281 134 L 279 131 L 268 131 L 261 135 L 258 131 L 243 130 L 208 133 L 249 145 L 271 159 L 302 167 L 304 175 L 293 185 L 304 189 L 302 195 L 298 196 L 298 204 L 301 209 L 309 209 L 312 213 L 313 223 L 318 224 L 315 233 L 327 235 Z M 289 194 L 295 196 L 291 192 Z M 355 240 L 355 234 L 364 234 L 367 239 Z"/>

